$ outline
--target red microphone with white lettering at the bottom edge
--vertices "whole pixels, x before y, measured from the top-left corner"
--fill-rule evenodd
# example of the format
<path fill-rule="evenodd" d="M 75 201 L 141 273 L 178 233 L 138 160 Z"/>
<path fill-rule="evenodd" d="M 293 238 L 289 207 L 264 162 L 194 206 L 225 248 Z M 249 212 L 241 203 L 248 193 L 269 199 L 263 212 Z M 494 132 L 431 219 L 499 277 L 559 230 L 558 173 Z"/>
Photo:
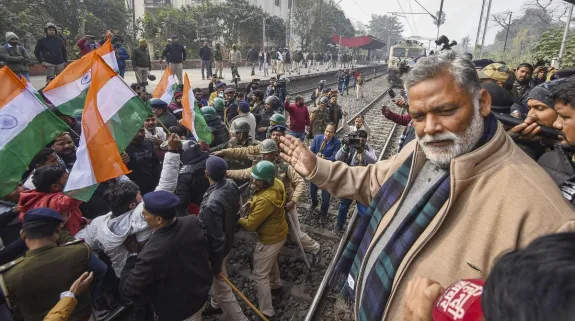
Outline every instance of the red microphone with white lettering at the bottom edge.
<path fill-rule="evenodd" d="M 450 285 L 433 306 L 434 321 L 480 321 L 481 294 L 485 281 L 459 280 Z"/>

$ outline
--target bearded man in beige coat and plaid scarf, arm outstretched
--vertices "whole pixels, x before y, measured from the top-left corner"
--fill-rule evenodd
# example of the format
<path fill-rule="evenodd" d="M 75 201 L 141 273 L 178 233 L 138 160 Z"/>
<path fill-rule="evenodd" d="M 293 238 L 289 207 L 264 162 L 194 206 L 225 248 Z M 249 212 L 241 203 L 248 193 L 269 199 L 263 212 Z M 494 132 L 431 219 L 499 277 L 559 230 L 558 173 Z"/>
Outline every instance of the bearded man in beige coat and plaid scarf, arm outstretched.
<path fill-rule="evenodd" d="M 575 230 L 575 214 L 551 178 L 491 115 L 470 60 L 452 51 L 422 58 L 405 85 L 417 141 L 388 160 L 348 167 L 281 139 L 282 158 L 312 183 L 370 204 L 356 247 L 363 255 L 348 246 L 336 267 L 343 271 L 353 254 L 349 274 L 335 282 L 343 281 L 361 321 L 401 320 L 415 275 L 444 285 L 485 278 L 502 253 Z"/>

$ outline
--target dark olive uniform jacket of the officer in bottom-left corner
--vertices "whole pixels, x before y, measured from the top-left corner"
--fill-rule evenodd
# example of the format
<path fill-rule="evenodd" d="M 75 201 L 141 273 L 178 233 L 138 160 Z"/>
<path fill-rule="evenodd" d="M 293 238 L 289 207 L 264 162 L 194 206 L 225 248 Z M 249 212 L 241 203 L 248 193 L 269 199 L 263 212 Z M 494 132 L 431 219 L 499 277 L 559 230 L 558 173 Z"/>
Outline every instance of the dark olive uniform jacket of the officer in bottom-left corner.
<path fill-rule="evenodd" d="M 0 285 L 12 308 L 17 307 L 26 321 L 42 321 L 86 272 L 90 248 L 77 240 L 62 246 L 47 245 L 0 267 Z M 77 297 L 78 304 L 68 320 L 87 320 L 92 313 L 88 291 Z"/>

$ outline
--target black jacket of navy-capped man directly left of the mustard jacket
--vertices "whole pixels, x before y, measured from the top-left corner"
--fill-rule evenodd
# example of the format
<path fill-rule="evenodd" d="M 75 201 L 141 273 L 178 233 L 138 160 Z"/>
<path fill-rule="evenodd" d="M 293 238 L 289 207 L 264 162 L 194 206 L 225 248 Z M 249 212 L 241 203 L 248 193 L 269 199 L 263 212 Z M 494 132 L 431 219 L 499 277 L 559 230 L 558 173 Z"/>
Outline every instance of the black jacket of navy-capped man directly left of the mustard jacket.
<path fill-rule="evenodd" d="M 240 191 L 231 179 L 211 185 L 200 206 L 200 221 L 208 233 L 212 272 L 220 273 L 222 262 L 234 244 L 234 228 L 240 210 Z"/>

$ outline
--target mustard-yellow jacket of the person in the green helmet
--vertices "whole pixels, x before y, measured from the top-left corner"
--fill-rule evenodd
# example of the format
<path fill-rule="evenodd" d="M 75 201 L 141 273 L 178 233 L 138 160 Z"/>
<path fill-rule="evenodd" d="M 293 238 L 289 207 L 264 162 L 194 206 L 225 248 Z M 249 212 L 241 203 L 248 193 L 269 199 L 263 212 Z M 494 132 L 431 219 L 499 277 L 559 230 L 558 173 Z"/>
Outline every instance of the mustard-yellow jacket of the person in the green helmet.
<path fill-rule="evenodd" d="M 288 233 L 285 204 L 284 184 L 275 178 L 271 187 L 254 193 L 250 215 L 241 218 L 239 224 L 248 232 L 258 233 L 258 240 L 264 245 L 279 243 Z"/>

